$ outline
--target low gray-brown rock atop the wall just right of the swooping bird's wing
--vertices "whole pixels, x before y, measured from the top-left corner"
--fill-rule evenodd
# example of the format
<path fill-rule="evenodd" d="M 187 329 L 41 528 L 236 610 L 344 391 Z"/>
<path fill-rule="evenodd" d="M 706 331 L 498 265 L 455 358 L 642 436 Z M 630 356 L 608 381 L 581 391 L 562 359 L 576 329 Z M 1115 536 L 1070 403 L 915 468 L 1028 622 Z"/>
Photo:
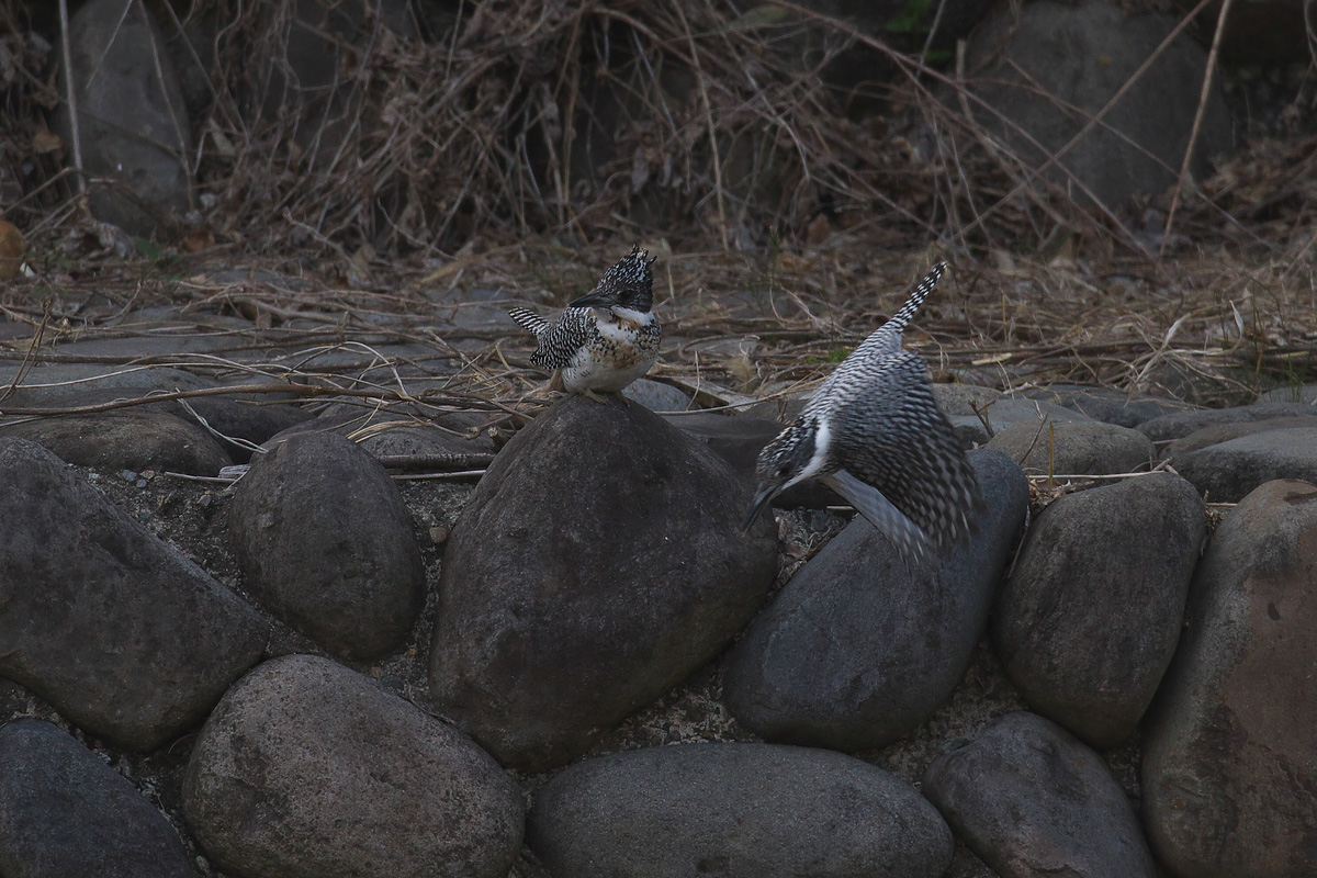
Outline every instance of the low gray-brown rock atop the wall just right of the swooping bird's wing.
<path fill-rule="evenodd" d="M 1015 424 L 988 441 L 1031 475 L 1137 473 L 1156 452 L 1147 436 L 1102 421 Z"/>

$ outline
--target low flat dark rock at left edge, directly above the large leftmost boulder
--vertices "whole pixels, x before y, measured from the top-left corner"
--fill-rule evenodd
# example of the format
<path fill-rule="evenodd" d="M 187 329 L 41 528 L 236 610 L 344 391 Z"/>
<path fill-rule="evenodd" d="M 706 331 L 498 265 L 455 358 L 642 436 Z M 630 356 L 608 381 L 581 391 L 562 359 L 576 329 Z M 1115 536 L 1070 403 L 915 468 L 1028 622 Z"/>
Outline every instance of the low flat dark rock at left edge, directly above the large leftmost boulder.
<path fill-rule="evenodd" d="M 0 426 L 0 436 L 37 442 L 66 463 L 111 471 L 219 475 L 233 463 L 199 425 L 134 408 L 20 421 Z"/>

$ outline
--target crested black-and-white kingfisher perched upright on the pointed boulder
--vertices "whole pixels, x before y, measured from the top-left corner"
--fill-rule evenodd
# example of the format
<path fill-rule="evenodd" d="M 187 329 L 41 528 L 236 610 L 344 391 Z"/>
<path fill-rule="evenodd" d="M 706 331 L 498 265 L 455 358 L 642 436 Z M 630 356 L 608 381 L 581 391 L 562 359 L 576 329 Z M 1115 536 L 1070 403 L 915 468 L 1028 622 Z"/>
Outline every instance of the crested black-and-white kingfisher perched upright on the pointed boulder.
<path fill-rule="evenodd" d="M 662 328 L 655 316 L 653 259 L 640 246 L 608 269 L 599 284 L 549 323 L 527 308 L 508 316 L 540 342 L 531 365 L 556 371 L 569 394 L 599 399 L 620 392 L 655 365 Z"/>

